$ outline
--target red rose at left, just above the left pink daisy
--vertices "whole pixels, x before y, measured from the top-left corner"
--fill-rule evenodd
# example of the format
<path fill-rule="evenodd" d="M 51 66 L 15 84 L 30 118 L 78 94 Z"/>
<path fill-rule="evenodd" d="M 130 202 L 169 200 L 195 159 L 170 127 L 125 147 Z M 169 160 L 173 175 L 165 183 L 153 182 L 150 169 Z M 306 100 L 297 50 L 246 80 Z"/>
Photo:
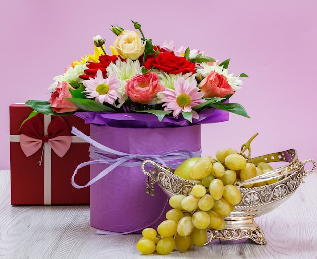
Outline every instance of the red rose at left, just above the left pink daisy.
<path fill-rule="evenodd" d="M 116 55 L 102 55 L 99 57 L 99 61 L 98 63 L 95 62 L 88 62 L 89 64 L 87 65 L 88 69 L 85 69 L 85 75 L 80 75 L 80 78 L 86 80 L 89 78 L 95 78 L 97 75 L 97 71 L 101 70 L 103 78 L 107 78 L 107 67 L 109 66 L 109 64 L 111 62 L 114 62 L 118 59 L 118 56 Z"/>

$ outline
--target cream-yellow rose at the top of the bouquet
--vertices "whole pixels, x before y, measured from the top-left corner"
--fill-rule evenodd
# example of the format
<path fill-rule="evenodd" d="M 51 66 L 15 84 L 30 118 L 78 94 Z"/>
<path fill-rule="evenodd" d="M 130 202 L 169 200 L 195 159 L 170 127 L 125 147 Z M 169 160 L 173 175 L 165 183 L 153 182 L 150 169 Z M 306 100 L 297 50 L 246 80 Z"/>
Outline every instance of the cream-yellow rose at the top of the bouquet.
<path fill-rule="evenodd" d="M 138 59 L 145 49 L 146 41 L 143 42 L 137 31 L 124 30 L 113 42 L 115 51 L 124 59 Z"/>

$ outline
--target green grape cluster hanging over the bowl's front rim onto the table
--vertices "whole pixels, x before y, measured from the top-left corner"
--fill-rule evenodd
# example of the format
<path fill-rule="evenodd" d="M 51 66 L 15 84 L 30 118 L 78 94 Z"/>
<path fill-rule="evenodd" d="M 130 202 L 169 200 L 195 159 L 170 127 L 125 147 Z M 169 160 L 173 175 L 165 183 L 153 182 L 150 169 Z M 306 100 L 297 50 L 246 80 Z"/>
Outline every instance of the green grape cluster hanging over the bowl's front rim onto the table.
<path fill-rule="evenodd" d="M 141 253 L 151 254 L 156 250 L 159 254 L 168 254 L 175 247 L 186 251 L 193 245 L 206 243 L 208 228 L 225 228 L 223 217 L 241 201 L 239 189 L 233 185 L 234 181 L 229 183 L 224 166 L 209 156 L 199 158 L 191 171 L 200 182 L 192 187 L 188 196 L 177 194 L 169 199 L 172 209 L 157 231 L 153 228 L 142 231 L 143 237 L 137 243 Z"/>

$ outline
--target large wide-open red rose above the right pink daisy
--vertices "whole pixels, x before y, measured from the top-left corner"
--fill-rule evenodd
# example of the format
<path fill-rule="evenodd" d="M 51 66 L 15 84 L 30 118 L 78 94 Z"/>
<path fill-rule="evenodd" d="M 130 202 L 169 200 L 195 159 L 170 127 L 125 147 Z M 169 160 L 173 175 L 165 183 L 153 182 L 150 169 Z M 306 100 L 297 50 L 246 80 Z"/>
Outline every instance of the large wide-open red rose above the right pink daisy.
<path fill-rule="evenodd" d="M 149 58 L 144 63 L 145 68 L 159 69 L 169 74 L 186 74 L 195 72 L 195 64 L 185 57 L 177 57 L 169 52 L 161 52 L 156 58 Z"/>

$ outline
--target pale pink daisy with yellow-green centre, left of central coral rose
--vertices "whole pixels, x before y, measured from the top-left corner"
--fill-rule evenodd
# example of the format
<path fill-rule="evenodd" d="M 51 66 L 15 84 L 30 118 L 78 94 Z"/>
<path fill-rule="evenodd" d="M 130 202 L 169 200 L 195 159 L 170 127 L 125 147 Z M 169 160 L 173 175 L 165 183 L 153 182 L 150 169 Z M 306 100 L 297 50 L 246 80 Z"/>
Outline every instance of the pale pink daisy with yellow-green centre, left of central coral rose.
<path fill-rule="evenodd" d="M 116 76 L 116 72 L 112 72 L 105 79 L 102 76 L 102 71 L 98 70 L 95 78 L 84 80 L 83 84 L 85 86 L 84 92 L 89 93 L 87 97 L 95 98 L 96 102 L 113 104 L 117 98 L 121 97 L 118 93 L 120 82 Z"/>

